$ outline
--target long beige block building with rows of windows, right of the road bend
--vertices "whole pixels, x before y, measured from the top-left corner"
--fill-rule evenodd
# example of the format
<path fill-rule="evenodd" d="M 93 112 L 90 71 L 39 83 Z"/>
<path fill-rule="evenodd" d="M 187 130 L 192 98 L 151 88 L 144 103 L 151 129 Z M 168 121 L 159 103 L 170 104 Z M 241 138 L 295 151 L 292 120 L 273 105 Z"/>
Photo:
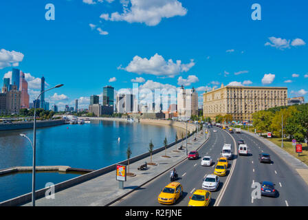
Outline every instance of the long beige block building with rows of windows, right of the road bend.
<path fill-rule="evenodd" d="M 203 94 L 203 116 L 232 115 L 233 120 L 252 120 L 252 113 L 287 105 L 287 87 L 223 86 Z"/>

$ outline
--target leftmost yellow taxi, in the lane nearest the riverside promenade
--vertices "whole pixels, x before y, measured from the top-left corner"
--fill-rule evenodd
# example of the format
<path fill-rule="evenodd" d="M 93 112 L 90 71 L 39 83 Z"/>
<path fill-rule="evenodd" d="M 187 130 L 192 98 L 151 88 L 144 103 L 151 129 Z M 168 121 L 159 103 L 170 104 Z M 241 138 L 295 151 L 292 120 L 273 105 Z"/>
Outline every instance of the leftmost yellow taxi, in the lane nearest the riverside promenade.
<path fill-rule="evenodd" d="M 162 204 L 175 204 L 177 199 L 183 195 L 183 186 L 180 183 L 173 181 L 165 186 L 162 192 L 158 195 L 158 202 Z"/>

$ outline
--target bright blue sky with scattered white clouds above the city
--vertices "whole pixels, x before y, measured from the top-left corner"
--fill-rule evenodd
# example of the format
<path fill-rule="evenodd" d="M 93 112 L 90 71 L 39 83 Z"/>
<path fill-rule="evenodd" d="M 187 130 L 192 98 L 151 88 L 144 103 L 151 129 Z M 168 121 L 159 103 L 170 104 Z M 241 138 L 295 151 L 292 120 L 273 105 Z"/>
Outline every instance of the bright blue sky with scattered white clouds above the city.
<path fill-rule="evenodd" d="M 253 3 L 261 21 L 251 18 Z M 47 87 L 63 83 L 45 95 L 61 109 L 76 98 L 87 107 L 105 85 L 131 88 L 136 78 L 199 95 L 221 83 L 288 87 L 307 100 L 307 8 L 299 0 L 1 1 L 0 83 L 13 66 L 27 73 L 31 100 L 41 76 Z"/>

